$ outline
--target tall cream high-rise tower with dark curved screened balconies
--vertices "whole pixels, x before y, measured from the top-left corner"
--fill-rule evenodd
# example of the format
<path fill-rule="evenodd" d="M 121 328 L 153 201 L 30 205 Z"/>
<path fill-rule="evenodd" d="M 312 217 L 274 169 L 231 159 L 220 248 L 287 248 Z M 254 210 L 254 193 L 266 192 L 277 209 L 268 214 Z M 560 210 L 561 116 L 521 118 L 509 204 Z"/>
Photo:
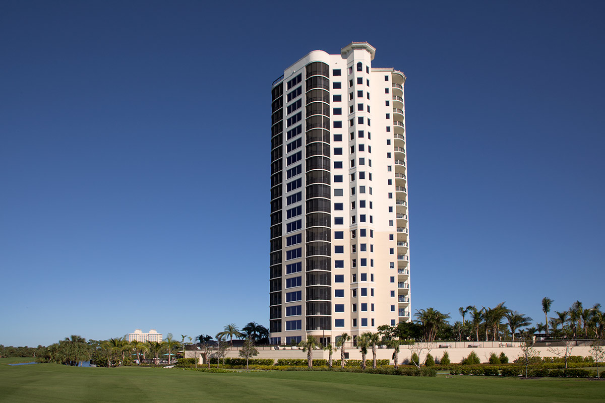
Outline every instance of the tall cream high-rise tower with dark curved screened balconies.
<path fill-rule="evenodd" d="M 375 52 L 312 51 L 273 82 L 274 344 L 410 319 L 405 75 Z"/>

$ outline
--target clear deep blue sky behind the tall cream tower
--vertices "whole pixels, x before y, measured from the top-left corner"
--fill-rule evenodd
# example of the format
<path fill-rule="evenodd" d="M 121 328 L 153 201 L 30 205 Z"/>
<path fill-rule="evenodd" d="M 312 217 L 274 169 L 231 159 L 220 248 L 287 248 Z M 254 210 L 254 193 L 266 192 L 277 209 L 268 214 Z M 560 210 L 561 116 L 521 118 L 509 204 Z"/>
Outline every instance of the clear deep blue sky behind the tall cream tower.
<path fill-rule="evenodd" d="M 605 303 L 605 3 L 0 3 L 0 344 L 269 321 L 270 85 L 408 76 L 413 311 Z"/>

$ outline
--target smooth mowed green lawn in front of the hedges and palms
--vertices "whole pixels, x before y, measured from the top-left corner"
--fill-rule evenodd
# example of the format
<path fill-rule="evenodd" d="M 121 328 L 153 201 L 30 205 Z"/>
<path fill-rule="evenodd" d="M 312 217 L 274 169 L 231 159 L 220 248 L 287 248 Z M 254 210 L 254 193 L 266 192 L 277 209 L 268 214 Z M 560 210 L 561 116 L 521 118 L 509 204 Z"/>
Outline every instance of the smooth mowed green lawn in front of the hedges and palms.
<path fill-rule="evenodd" d="M 8 366 L 0 402 L 603 402 L 605 382 L 339 372 L 203 373 L 158 368 Z"/>

